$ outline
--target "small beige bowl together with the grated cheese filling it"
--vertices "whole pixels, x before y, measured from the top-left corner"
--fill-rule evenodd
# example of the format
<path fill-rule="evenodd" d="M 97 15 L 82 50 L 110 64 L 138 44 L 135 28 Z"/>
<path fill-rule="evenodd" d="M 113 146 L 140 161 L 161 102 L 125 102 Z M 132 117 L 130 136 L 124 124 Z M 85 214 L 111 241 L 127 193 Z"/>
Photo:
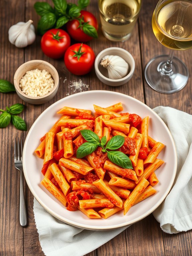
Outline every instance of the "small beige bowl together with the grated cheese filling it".
<path fill-rule="evenodd" d="M 30 60 L 16 70 L 14 86 L 18 96 L 25 102 L 43 104 L 57 93 L 59 75 L 49 62 Z"/>

